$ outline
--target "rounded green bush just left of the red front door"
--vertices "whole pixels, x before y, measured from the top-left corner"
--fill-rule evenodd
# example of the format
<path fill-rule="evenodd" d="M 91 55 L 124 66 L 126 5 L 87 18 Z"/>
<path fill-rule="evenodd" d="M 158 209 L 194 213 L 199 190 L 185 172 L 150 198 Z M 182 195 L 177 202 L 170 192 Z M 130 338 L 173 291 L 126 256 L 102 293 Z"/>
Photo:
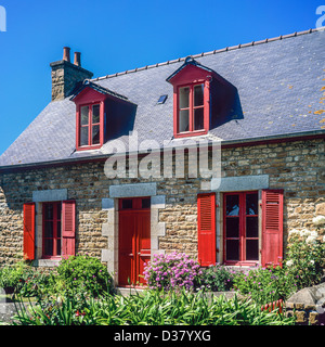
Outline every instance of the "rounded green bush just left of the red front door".
<path fill-rule="evenodd" d="M 113 292 L 113 279 L 98 258 L 88 255 L 70 256 L 56 268 L 56 287 L 65 291 L 86 292 L 92 295 Z"/>

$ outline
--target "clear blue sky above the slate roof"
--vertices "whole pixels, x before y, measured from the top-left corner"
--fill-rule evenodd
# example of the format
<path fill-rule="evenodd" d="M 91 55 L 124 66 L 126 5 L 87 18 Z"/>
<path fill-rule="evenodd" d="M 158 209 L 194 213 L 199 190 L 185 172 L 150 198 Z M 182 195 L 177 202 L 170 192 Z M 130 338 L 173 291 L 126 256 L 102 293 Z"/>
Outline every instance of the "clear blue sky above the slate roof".
<path fill-rule="evenodd" d="M 94 77 L 316 27 L 314 0 L 0 0 L 0 154 L 51 101 L 50 63 Z M 324 24 L 325 25 L 325 21 Z"/>

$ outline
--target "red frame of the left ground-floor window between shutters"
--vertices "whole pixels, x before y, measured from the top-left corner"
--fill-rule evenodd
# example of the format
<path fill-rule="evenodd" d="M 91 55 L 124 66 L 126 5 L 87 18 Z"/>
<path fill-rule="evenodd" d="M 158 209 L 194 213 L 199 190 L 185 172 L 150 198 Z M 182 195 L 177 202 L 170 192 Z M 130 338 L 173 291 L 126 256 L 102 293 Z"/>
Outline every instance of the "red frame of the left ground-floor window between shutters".
<path fill-rule="evenodd" d="M 52 205 L 53 208 L 53 218 L 47 219 L 47 207 Z M 60 207 L 61 214 L 60 217 L 57 216 L 57 208 Z M 61 202 L 50 202 L 50 203 L 43 203 L 42 206 L 42 258 L 43 259 L 52 259 L 52 258 L 61 258 L 62 255 L 62 203 Z M 53 235 L 52 237 L 46 236 L 46 226 L 47 222 L 52 222 L 52 230 Z M 60 228 L 60 229 L 58 229 Z M 52 240 L 53 246 L 52 246 L 52 255 L 46 254 L 46 241 Z M 60 247 L 58 247 L 60 246 Z M 60 249 L 57 252 L 57 249 Z"/>

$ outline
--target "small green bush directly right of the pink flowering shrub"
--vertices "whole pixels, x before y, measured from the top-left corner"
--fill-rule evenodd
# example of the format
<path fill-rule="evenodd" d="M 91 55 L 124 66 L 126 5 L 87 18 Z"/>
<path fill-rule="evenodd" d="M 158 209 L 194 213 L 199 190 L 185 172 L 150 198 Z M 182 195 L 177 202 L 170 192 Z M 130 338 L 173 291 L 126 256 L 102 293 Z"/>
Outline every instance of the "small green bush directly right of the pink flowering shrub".
<path fill-rule="evenodd" d="M 208 291 L 226 292 L 233 287 L 235 271 L 216 264 L 202 270 L 200 284 Z"/>

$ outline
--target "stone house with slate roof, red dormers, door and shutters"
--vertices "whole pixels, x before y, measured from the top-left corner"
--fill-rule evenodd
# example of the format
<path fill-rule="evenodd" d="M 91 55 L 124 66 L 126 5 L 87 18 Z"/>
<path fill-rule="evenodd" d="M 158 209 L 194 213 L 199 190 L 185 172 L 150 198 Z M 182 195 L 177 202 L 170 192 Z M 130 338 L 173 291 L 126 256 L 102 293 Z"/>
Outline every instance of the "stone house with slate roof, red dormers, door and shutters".
<path fill-rule="evenodd" d="M 123 286 L 173 250 L 277 264 L 324 208 L 324 35 L 98 78 L 64 48 L 52 101 L 0 156 L 0 265 L 87 253 Z"/>

